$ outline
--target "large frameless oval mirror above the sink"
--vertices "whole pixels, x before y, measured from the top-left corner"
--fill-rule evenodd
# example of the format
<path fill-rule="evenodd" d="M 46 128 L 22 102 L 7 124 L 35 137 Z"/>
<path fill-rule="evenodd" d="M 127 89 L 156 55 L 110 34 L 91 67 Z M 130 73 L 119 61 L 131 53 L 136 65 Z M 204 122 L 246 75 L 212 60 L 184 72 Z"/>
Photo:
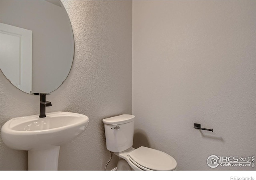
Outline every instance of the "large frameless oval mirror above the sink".
<path fill-rule="evenodd" d="M 59 0 L 0 0 L 0 68 L 20 90 L 50 93 L 66 80 L 74 36 Z"/>

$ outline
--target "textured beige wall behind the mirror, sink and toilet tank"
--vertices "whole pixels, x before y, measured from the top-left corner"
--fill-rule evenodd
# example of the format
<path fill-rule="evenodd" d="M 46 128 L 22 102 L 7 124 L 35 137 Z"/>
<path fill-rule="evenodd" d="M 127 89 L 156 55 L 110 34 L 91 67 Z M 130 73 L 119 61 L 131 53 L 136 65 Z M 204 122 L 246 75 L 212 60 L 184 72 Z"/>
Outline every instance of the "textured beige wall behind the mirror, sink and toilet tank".
<path fill-rule="evenodd" d="M 132 113 L 132 1 L 62 1 L 74 31 L 75 54 L 64 84 L 47 96 L 46 112 L 85 114 L 90 123 L 60 147 L 59 170 L 104 170 L 102 119 Z M 0 127 L 13 117 L 39 114 L 39 97 L 21 92 L 0 72 Z M 0 170 L 26 170 L 27 152 L 0 138 Z M 117 158 L 109 164 L 115 167 Z"/>

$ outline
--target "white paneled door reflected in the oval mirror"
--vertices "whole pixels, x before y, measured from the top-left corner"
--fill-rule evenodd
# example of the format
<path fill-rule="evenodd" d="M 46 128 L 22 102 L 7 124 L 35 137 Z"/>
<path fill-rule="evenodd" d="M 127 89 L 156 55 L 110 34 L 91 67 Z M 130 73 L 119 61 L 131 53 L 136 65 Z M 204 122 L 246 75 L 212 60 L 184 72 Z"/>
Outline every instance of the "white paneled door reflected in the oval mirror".
<path fill-rule="evenodd" d="M 0 69 L 16 87 L 32 90 L 32 31 L 0 23 Z"/>

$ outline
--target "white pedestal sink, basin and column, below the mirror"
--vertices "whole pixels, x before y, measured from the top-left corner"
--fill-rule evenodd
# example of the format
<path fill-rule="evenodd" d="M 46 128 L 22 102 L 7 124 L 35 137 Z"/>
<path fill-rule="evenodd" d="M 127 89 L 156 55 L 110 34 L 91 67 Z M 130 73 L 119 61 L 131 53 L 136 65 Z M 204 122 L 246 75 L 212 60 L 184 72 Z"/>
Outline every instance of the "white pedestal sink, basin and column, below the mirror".
<path fill-rule="evenodd" d="M 72 112 L 12 118 L 2 126 L 6 146 L 28 151 L 28 170 L 58 170 L 60 145 L 74 139 L 88 126 L 89 118 Z"/>

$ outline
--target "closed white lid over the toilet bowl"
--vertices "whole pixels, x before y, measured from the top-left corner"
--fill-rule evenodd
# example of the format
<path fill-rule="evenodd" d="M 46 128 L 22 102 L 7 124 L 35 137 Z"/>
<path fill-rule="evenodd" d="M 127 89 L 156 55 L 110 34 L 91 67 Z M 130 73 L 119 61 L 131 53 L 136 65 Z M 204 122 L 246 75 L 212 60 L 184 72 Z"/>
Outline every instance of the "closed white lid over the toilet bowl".
<path fill-rule="evenodd" d="M 134 164 L 142 166 L 142 169 L 145 168 L 144 170 L 174 170 L 177 166 L 177 162 L 172 156 L 144 146 L 130 152 L 129 158 L 135 162 Z"/>

